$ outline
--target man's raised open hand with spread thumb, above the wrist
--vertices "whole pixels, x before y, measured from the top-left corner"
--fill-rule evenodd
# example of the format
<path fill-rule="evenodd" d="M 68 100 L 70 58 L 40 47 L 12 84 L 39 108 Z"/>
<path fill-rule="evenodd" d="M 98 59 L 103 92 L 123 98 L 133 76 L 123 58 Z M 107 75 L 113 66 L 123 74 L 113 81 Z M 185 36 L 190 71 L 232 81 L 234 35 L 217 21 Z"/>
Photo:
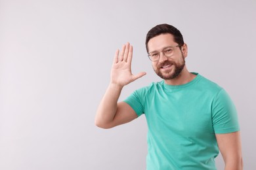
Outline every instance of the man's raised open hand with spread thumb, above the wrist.
<path fill-rule="evenodd" d="M 111 71 L 111 83 L 118 86 L 125 86 L 134 80 L 146 75 L 145 72 L 140 72 L 137 75 L 131 73 L 131 60 L 133 58 L 133 46 L 127 42 L 123 45 L 121 52 L 116 50 L 114 63 Z"/>

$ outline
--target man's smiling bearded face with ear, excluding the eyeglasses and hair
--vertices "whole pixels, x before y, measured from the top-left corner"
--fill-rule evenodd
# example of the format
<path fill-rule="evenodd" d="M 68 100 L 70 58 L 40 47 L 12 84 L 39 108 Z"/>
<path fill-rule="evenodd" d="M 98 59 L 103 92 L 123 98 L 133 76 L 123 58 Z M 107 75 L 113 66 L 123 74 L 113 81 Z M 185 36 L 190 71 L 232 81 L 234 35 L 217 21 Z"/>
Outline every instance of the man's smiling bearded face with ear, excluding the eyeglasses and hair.
<path fill-rule="evenodd" d="M 187 55 L 186 44 L 181 49 L 177 45 L 173 35 L 169 33 L 158 35 L 148 41 L 148 52 L 160 52 L 159 60 L 152 61 L 152 66 L 156 74 L 164 80 L 176 78 L 185 66 L 184 58 Z M 173 56 L 169 58 L 161 52 L 167 46 L 177 46 L 175 47 Z"/>

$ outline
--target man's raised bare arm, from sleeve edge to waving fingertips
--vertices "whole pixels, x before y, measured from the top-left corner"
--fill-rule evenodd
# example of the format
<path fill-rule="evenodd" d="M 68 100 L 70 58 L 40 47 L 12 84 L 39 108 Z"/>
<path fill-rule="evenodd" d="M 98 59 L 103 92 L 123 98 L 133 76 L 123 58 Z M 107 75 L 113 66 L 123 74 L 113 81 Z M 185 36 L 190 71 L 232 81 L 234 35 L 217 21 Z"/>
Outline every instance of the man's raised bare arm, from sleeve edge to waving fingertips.
<path fill-rule="evenodd" d="M 125 124 L 137 118 L 137 114 L 127 103 L 117 103 L 123 86 L 146 75 L 144 72 L 138 75 L 131 73 L 132 57 L 133 46 L 130 46 L 129 43 L 123 45 L 120 53 L 119 50 L 116 51 L 112 65 L 110 84 L 96 112 L 96 126 L 110 128 Z"/>

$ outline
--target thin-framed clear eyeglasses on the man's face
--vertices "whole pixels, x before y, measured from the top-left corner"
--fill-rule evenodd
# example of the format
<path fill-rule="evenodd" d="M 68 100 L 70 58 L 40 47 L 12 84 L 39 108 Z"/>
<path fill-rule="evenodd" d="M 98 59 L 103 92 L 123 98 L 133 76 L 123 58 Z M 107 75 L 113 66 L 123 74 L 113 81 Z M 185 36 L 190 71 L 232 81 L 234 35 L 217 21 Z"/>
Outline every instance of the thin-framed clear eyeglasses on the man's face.
<path fill-rule="evenodd" d="M 180 46 L 180 45 L 177 45 Z M 163 53 L 163 55 L 165 55 L 165 57 L 169 58 L 171 56 L 173 56 L 174 52 L 175 52 L 175 47 L 177 46 L 167 46 L 165 48 L 163 48 L 163 50 L 161 50 L 161 52 Z M 151 61 L 158 61 L 158 59 L 160 58 L 160 53 L 161 52 L 150 52 L 148 53 L 148 58 Z"/>

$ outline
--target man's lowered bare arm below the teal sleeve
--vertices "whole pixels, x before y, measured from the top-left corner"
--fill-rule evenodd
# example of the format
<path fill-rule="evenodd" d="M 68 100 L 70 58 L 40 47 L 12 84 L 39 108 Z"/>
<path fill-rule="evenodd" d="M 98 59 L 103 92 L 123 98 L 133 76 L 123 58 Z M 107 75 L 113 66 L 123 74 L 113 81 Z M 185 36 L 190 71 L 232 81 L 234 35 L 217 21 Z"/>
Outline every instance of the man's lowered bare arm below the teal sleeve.
<path fill-rule="evenodd" d="M 216 134 L 219 150 L 223 156 L 225 170 L 242 170 L 242 146 L 240 131 Z"/>

